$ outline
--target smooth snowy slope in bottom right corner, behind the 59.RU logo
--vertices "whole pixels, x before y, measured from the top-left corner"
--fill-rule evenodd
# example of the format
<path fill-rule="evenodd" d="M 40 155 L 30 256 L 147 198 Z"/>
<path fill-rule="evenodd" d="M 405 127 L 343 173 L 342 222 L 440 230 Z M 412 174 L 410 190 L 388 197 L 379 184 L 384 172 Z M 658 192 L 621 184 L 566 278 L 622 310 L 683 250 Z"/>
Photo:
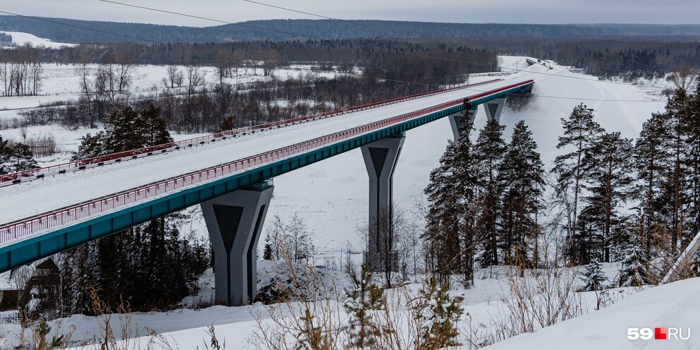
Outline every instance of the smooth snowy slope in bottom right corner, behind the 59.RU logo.
<path fill-rule="evenodd" d="M 690 339 L 629 340 L 628 327 L 678 327 Z M 602 310 L 521 334 L 488 350 L 700 349 L 700 277 L 641 291 Z M 464 348 L 467 349 L 467 348 Z"/>

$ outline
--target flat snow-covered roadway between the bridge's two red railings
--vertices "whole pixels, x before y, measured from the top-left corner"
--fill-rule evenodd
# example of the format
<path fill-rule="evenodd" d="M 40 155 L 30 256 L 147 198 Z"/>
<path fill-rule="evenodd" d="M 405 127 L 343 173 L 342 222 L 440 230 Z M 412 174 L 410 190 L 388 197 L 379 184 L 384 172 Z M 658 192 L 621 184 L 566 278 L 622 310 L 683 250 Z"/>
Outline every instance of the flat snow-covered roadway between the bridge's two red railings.
<path fill-rule="evenodd" d="M 520 78 L 520 77 L 518 77 Z M 349 128 L 380 121 L 443 102 L 462 99 L 515 82 L 515 78 L 478 87 L 421 97 L 366 111 L 303 123 L 165 155 L 135 159 L 107 167 L 59 174 L 42 181 L 0 189 L 0 223 L 13 222 L 61 207 L 119 193 L 147 183 L 243 159 Z"/>

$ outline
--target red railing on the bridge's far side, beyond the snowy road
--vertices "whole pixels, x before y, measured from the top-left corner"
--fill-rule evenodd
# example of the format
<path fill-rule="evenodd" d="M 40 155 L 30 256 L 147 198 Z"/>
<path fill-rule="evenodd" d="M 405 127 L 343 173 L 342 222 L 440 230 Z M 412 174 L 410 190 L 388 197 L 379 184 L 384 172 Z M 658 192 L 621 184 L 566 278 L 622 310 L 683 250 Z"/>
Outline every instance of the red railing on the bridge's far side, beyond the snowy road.
<path fill-rule="evenodd" d="M 494 83 L 495 81 L 499 81 L 499 80 L 502 80 L 502 79 L 493 79 L 493 80 L 488 80 L 488 81 L 484 81 L 481 83 L 461 85 L 461 86 L 456 86 L 456 87 L 449 87 L 447 89 L 435 90 L 435 91 L 430 91 L 430 92 L 423 92 L 420 94 L 409 95 L 409 96 L 404 96 L 404 97 L 397 97 L 394 99 L 387 99 L 387 100 L 380 101 L 380 102 L 361 104 L 361 105 L 355 106 L 355 107 L 337 109 L 334 111 L 326 111 L 326 112 L 323 112 L 320 114 L 310 114 L 308 116 L 299 116 L 299 117 L 292 118 L 292 119 L 285 119 L 282 121 L 274 121 L 272 123 L 264 123 L 264 124 L 260 124 L 260 125 L 256 125 L 256 126 L 247 126 L 244 128 L 236 128 L 234 130 L 222 131 L 220 133 L 213 133 L 211 135 L 199 136 L 197 138 L 189 138 L 187 140 L 180 140 L 180 141 L 176 141 L 176 142 L 172 142 L 172 143 L 164 143 L 162 145 L 143 147 L 143 148 L 139 148 L 136 150 L 128 150 L 128 151 L 124 151 L 124 152 L 112 153 L 109 155 L 102 155 L 102 156 L 98 156 L 98 157 L 92 157 L 92 158 L 81 159 L 81 160 L 77 160 L 77 161 L 73 161 L 73 162 L 67 162 L 64 164 L 51 165 L 49 167 L 42 167 L 42 168 L 37 168 L 37 169 L 30 169 L 27 171 L 19 171 L 19 172 L 13 173 L 13 174 L 0 175 L 0 187 L 12 185 L 13 183 L 19 183 L 20 181 L 22 181 L 22 179 L 25 179 L 25 178 L 35 178 L 36 179 L 36 178 L 42 178 L 42 177 L 50 175 L 50 174 L 61 174 L 61 173 L 65 173 L 67 171 L 83 170 L 83 169 L 87 169 L 89 167 L 99 167 L 101 165 L 104 165 L 107 162 L 121 162 L 124 159 L 133 159 L 133 158 L 138 158 L 140 156 L 143 157 L 143 156 L 153 155 L 156 153 L 168 152 L 169 150 L 178 150 L 181 147 L 192 147 L 193 145 L 211 142 L 211 141 L 217 140 L 219 138 L 225 139 L 229 136 L 235 137 L 236 135 L 246 135 L 246 133 L 255 133 L 255 131 L 263 131 L 263 130 L 271 129 L 271 128 L 280 128 L 283 126 L 290 126 L 290 125 L 295 125 L 297 123 L 303 123 L 305 121 L 325 119 L 325 118 L 329 118 L 332 116 L 339 116 L 342 114 L 348 114 L 348 113 L 351 113 L 354 111 L 362 111 L 365 109 L 386 106 L 387 104 L 404 102 L 404 101 L 409 100 L 409 99 L 416 99 L 416 98 L 420 98 L 420 97 L 438 95 L 438 94 L 444 93 L 444 92 L 449 92 L 449 91 L 464 89 L 464 88 L 468 88 L 468 87 L 475 87 L 475 86 L 479 86 L 479 85 Z"/>

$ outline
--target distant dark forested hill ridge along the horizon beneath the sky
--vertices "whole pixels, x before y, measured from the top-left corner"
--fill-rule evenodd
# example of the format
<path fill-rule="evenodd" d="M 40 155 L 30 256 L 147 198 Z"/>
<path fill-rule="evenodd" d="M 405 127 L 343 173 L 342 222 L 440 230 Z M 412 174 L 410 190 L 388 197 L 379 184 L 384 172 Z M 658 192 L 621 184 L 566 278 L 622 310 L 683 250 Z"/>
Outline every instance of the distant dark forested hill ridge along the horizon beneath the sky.
<path fill-rule="evenodd" d="M 620 39 L 620 37 L 643 37 L 645 40 L 697 40 L 700 38 L 700 25 L 538 25 L 354 20 L 354 23 L 360 24 L 356 25 L 337 20 L 251 20 L 237 24 L 199 28 L 66 18 L 44 19 L 50 22 L 20 16 L 0 16 L 0 30 L 28 32 L 52 41 L 71 43 L 138 41 L 105 32 L 116 32 L 155 42 L 200 43 L 251 40 L 288 41 L 312 38 L 324 40 L 358 38 L 516 40 L 525 37 L 543 40 L 562 38 Z M 91 28 L 102 32 L 76 27 Z"/>

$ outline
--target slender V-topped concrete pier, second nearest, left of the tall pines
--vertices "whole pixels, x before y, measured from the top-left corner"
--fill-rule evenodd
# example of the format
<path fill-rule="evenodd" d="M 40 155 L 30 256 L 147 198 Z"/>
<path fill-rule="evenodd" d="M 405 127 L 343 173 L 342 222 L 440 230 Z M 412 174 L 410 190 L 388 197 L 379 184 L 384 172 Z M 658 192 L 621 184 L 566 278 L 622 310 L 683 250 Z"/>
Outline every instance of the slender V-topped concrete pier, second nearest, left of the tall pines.
<path fill-rule="evenodd" d="M 364 145 L 362 157 L 369 176 L 368 246 L 365 262 L 374 271 L 382 271 L 386 258 L 387 224 L 392 222 L 394 170 L 404 145 L 404 134 Z"/>

